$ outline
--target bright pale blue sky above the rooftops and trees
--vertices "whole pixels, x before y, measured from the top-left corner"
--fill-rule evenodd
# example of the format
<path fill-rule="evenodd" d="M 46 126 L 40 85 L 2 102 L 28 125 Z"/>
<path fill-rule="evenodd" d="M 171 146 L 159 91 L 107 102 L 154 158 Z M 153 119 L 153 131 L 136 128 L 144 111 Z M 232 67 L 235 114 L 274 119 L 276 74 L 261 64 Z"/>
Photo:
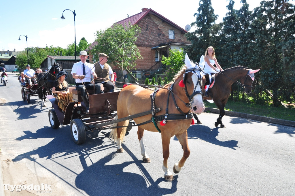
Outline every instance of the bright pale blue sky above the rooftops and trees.
<path fill-rule="evenodd" d="M 83 2 L 83 3 L 82 3 Z M 228 0 L 211 0 L 214 13 L 219 15 L 218 21 L 227 12 Z M 293 2 L 294 1 L 290 1 Z M 260 0 L 247 0 L 249 9 L 259 6 Z M 240 9 L 239 0 L 235 1 L 235 9 Z M 60 19 L 63 10 L 76 12 L 76 42 L 85 37 L 89 43 L 94 42 L 97 30 L 104 30 L 114 22 L 141 12 L 142 8 L 151 8 L 167 19 L 184 28 L 196 19 L 194 13 L 199 8 L 199 0 L 14 0 L 1 1 L 1 40 L 0 50 L 13 51 L 28 47 L 66 48 L 74 42 L 74 15 L 64 12 L 65 19 Z M 191 30 L 194 30 L 193 28 Z M 19 36 L 21 41 L 19 41 Z"/>

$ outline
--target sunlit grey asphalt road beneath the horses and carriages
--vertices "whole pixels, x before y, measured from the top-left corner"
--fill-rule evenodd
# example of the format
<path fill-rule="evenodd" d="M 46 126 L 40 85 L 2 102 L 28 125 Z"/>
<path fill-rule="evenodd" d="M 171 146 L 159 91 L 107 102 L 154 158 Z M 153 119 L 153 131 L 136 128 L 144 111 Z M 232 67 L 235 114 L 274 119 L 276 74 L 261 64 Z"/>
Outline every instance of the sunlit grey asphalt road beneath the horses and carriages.
<path fill-rule="evenodd" d="M 160 133 L 145 131 L 151 163 L 142 162 L 136 128 L 125 137 L 124 153 L 116 153 L 108 131 L 88 135 L 84 144 L 76 145 L 69 125 L 50 127 L 50 102 L 47 107 L 37 97 L 23 102 L 17 76 L 9 76 L 7 86 L 0 85 L 3 183 L 47 183 L 52 185 L 50 195 L 294 195 L 294 127 L 224 116 L 226 128 L 215 128 L 218 115 L 203 113 L 203 124 L 188 130 L 189 158 L 175 180 L 166 182 Z M 182 154 L 172 137 L 171 171 Z M 17 174 L 3 171 L 12 166 L 19 168 Z"/>

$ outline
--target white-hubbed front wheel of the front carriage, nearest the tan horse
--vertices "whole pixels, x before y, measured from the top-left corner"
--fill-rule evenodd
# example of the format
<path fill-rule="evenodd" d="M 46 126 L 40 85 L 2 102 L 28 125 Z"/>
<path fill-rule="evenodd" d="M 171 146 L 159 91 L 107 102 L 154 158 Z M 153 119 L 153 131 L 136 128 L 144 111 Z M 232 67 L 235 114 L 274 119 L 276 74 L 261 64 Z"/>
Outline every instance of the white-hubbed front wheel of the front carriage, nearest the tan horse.
<path fill-rule="evenodd" d="M 76 144 L 82 144 L 85 142 L 86 131 L 81 119 L 76 118 L 71 121 L 71 130 L 73 141 Z"/>

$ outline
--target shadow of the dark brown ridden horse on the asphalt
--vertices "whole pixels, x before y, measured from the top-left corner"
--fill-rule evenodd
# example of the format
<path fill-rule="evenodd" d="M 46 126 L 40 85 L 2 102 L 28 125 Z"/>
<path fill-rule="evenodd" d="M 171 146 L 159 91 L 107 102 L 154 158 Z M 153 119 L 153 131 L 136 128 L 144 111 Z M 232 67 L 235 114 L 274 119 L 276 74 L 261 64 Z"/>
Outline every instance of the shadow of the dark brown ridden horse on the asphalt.
<path fill-rule="evenodd" d="M 236 140 L 230 140 L 230 141 L 220 141 L 216 139 L 220 127 L 210 129 L 209 127 L 205 125 L 193 125 L 190 126 L 187 130 L 187 136 L 188 139 L 201 139 L 203 141 L 207 141 L 209 143 L 215 144 L 217 146 L 223 146 L 227 148 L 231 148 L 233 150 L 236 150 L 235 148 L 238 144 L 238 141 Z M 175 137 L 176 138 L 176 137 Z M 177 140 L 177 138 L 176 138 Z"/>

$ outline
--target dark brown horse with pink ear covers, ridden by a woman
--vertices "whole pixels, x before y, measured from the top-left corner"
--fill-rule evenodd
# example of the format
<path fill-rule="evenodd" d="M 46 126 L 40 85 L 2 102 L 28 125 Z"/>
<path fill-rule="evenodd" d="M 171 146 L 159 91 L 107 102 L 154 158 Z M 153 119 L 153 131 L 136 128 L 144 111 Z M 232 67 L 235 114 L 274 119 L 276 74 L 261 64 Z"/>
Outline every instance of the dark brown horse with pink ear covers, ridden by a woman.
<path fill-rule="evenodd" d="M 224 71 L 215 74 L 215 83 L 214 86 L 212 86 L 211 89 L 208 90 L 209 92 L 209 98 L 204 97 L 204 99 L 213 99 L 216 106 L 219 108 L 219 117 L 217 118 L 215 122 L 215 127 L 217 127 L 220 124 L 221 128 L 225 128 L 224 124 L 222 123 L 222 117 L 225 115 L 224 107 L 227 103 L 227 99 L 230 97 L 230 92 L 232 91 L 232 84 L 234 82 L 241 85 L 241 87 L 244 89 L 244 93 L 249 94 L 252 90 L 252 82 L 254 81 L 254 73 L 259 71 L 252 70 L 247 67 L 242 66 L 236 66 L 232 68 L 227 68 Z M 237 80 L 240 80 L 238 82 Z M 199 118 L 194 115 L 195 119 L 198 121 L 198 123 L 201 123 L 199 121 Z"/>

